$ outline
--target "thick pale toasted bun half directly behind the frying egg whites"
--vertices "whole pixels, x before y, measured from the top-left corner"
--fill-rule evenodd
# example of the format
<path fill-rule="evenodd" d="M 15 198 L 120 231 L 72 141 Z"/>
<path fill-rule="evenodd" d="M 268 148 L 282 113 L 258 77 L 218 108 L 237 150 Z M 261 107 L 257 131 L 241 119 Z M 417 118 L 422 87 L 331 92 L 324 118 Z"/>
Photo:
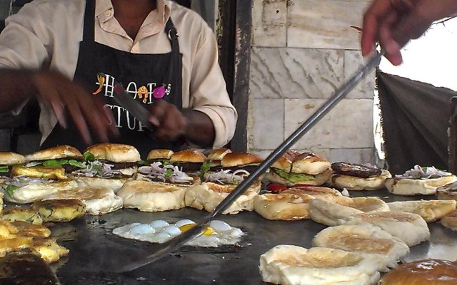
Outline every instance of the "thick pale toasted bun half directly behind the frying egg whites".
<path fill-rule="evenodd" d="M 142 212 L 160 212 L 185 207 L 187 187 L 162 182 L 131 180 L 119 190 L 124 207 Z"/>

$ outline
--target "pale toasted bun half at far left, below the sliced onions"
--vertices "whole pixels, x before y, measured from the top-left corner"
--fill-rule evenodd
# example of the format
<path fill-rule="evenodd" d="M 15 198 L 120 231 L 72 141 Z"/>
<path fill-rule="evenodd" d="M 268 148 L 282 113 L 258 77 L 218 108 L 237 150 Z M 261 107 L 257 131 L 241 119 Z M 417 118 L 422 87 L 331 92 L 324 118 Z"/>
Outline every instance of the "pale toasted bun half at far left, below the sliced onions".
<path fill-rule="evenodd" d="M 31 202 L 41 201 L 46 195 L 74 189 L 78 184 L 74 180 L 51 182 L 51 183 L 33 183 L 14 190 L 13 196 L 4 195 L 4 199 L 8 202 L 17 204 L 28 204 Z"/>

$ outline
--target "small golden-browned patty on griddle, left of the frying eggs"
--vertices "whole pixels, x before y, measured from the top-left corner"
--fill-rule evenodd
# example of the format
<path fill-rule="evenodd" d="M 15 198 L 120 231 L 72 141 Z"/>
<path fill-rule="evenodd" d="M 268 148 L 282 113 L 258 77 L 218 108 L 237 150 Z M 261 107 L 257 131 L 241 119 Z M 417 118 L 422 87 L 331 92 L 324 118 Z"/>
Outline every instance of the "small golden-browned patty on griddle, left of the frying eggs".
<path fill-rule="evenodd" d="M 40 214 L 43 222 L 70 222 L 86 213 L 86 205 L 79 199 L 34 202 L 31 208 Z"/>

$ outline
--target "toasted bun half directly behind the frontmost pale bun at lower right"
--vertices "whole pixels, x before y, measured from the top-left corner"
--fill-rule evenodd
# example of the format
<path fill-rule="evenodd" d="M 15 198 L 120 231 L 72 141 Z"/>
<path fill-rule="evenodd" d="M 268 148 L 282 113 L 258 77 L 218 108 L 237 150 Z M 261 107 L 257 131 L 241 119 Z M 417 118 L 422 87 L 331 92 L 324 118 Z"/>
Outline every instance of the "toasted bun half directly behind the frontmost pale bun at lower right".
<path fill-rule="evenodd" d="M 398 259 L 409 253 L 409 247 L 388 232 L 373 225 L 328 227 L 316 234 L 314 247 L 341 249 L 377 260 L 378 271 L 388 271 Z"/>

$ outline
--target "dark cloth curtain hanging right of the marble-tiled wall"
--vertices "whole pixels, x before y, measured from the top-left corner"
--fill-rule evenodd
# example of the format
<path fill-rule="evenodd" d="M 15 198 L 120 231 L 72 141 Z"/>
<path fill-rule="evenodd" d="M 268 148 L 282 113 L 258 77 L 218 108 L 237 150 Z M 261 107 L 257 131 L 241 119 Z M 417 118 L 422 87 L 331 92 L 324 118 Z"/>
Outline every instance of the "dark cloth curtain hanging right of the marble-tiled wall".
<path fill-rule="evenodd" d="M 450 103 L 457 93 L 381 71 L 376 78 L 391 173 L 414 165 L 448 169 Z"/>

